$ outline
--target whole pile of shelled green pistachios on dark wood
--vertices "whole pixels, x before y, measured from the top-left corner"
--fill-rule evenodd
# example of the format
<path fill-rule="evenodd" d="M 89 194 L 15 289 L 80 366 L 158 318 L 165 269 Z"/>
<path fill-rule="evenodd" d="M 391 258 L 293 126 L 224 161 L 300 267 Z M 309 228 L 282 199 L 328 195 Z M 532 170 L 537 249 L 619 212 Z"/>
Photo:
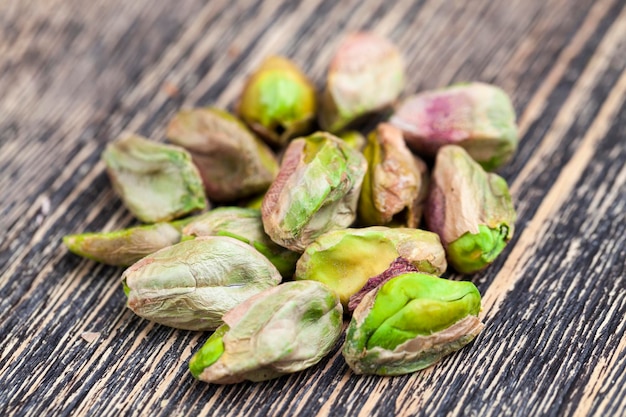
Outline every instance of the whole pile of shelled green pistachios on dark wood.
<path fill-rule="evenodd" d="M 111 183 L 143 224 L 64 243 L 128 267 L 122 284 L 137 315 L 213 331 L 189 362 L 202 381 L 311 367 L 344 319 L 354 373 L 426 368 L 484 327 L 476 286 L 440 276 L 448 264 L 482 270 L 511 239 L 508 186 L 490 171 L 512 157 L 518 133 L 498 87 L 401 98 L 404 80 L 398 48 L 372 33 L 345 38 L 321 94 L 293 62 L 269 57 L 235 114 L 181 110 L 172 144 L 111 142 Z M 366 136 L 354 130 L 385 110 Z"/>

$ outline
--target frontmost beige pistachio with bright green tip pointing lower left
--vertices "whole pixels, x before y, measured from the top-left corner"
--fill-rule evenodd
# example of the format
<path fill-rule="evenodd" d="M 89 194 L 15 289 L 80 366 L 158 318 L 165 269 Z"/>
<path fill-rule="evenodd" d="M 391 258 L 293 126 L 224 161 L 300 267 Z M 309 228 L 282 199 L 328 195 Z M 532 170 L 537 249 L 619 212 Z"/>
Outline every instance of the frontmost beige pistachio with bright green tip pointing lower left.
<path fill-rule="evenodd" d="M 337 295 L 314 281 L 287 282 L 229 311 L 223 327 L 191 358 L 202 381 L 265 381 L 318 363 L 342 329 Z"/>

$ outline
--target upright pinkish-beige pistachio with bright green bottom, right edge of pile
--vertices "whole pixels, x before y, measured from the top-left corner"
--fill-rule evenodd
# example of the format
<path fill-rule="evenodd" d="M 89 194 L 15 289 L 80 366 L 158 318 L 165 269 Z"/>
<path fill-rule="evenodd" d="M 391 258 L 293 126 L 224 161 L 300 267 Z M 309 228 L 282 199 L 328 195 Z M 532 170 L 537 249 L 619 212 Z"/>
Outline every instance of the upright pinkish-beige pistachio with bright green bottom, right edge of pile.
<path fill-rule="evenodd" d="M 516 213 L 506 181 L 485 170 L 461 147 L 437 153 L 425 211 L 429 230 L 463 274 L 491 264 L 513 237 Z"/>

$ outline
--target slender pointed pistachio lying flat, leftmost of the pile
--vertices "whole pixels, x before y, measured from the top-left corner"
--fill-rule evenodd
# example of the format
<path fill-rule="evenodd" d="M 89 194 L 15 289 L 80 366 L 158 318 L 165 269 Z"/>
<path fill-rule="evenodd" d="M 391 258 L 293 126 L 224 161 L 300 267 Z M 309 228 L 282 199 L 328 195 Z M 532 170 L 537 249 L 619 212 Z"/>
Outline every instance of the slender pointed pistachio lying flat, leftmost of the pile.
<path fill-rule="evenodd" d="M 63 237 L 63 243 L 72 253 L 114 266 L 132 265 L 144 256 L 180 240 L 180 230 L 170 223 Z"/>

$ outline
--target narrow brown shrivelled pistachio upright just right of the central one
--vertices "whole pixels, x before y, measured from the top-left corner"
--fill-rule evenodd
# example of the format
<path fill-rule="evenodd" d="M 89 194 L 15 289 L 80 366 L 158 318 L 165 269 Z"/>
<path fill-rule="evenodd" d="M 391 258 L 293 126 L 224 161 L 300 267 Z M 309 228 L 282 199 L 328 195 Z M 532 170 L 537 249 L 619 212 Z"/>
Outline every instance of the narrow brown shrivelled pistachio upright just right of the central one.
<path fill-rule="evenodd" d="M 368 170 L 361 187 L 359 221 L 364 225 L 419 226 L 427 195 L 426 164 L 406 147 L 402 132 L 381 123 L 363 155 Z"/>

